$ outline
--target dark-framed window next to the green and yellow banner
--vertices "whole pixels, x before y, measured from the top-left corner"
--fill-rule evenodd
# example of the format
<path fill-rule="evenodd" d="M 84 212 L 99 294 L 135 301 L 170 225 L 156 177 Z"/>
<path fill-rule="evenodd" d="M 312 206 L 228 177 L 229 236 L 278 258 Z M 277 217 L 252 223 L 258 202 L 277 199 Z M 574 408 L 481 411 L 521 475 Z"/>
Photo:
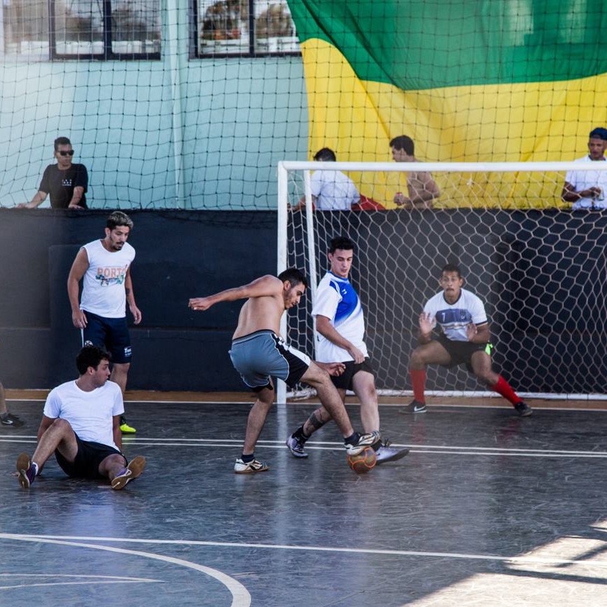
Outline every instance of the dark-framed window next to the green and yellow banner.
<path fill-rule="evenodd" d="M 299 53 L 286 0 L 196 0 L 196 56 Z"/>

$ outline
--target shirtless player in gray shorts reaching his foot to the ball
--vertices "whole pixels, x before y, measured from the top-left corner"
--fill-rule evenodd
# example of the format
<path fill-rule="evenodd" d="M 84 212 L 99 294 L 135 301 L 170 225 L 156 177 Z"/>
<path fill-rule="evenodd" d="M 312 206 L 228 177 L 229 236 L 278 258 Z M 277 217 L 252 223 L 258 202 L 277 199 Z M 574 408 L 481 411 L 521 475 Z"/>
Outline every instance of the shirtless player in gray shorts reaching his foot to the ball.
<path fill-rule="evenodd" d="M 379 432 L 354 432 L 345 406 L 329 375 L 340 375 L 342 363 L 316 363 L 288 346 L 280 337 L 280 320 L 284 311 L 295 307 L 304 294 L 307 281 L 295 268 L 276 276 L 261 276 L 253 282 L 220 291 L 204 298 L 189 300 L 193 310 L 206 310 L 218 302 L 246 299 L 241 308 L 238 326 L 232 337 L 229 356 L 244 383 L 257 395 L 246 424 L 242 455 L 236 460 L 234 472 L 246 474 L 265 472 L 269 467 L 255 459 L 255 444 L 274 402 L 272 375 L 293 387 L 306 382 L 316 389 L 324 408 L 338 425 L 345 448 L 356 455 L 380 439 Z"/>

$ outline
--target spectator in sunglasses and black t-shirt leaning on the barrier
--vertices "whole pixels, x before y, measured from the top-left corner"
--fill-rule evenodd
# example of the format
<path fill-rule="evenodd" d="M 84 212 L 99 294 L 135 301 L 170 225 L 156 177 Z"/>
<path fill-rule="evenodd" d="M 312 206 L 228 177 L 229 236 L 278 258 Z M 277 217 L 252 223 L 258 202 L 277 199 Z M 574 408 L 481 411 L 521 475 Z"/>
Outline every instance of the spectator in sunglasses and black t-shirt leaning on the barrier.
<path fill-rule="evenodd" d="M 51 194 L 52 208 L 88 208 L 85 192 L 88 188 L 88 173 L 84 164 L 72 164 L 74 150 L 67 137 L 55 139 L 57 164 L 49 164 L 44 170 L 38 192 L 21 208 L 36 208 Z"/>

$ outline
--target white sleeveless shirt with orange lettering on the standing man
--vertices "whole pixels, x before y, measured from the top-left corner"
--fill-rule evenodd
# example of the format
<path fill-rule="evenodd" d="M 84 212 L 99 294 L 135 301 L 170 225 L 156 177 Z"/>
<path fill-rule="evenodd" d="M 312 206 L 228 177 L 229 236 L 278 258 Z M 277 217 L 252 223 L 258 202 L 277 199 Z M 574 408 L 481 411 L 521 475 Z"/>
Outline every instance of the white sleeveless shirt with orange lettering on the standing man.
<path fill-rule="evenodd" d="M 84 273 L 80 309 L 108 319 L 126 316 L 126 271 L 135 259 L 135 249 L 126 242 L 113 253 L 94 240 L 84 245 L 88 269 Z"/>

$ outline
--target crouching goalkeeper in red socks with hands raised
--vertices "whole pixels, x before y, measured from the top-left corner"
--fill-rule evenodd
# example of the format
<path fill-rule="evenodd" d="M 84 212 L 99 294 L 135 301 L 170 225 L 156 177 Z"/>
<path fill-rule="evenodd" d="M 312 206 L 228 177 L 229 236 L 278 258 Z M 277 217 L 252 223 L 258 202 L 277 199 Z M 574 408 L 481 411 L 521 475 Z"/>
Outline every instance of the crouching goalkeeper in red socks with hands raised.
<path fill-rule="evenodd" d="M 514 392 L 508 382 L 491 368 L 489 323 L 483 302 L 471 291 L 462 288 L 460 268 L 453 264 L 443 267 L 439 281 L 443 291 L 430 298 L 420 314 L 419 345 L 411 354 L 409 370 L 413 383 L 413 402 L 401 413 L 424 413 L 426 367 L 431 364 L 452 367 L 465 364 L 493 391 L 512 403 L 522 417 L 533 411 Z M 436 326 L 441 329 L 438 339 L 432 339 Z"/>

